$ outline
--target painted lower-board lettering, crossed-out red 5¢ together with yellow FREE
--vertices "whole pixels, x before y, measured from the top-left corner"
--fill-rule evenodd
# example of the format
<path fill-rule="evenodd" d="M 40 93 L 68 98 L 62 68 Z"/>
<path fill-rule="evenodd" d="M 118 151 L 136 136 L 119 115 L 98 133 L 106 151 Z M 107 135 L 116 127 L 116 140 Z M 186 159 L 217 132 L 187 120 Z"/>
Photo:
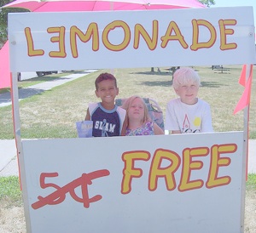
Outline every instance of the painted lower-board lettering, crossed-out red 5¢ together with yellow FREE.
<path fill-rule="evenodd" d="M 181 179 L 177 189 L 179 191 L 189 191 L 195 189 L 201 189 L 204 185 L 202 179 L 191 180 L 190 176 L 192 171 L 196 173 L 195 170 L 200 170 L 203 168 L 204 164 L 200 160 L 196 160 L 196 157 L 208 156 L 210 154 L 210 166 L 208 172 L 208 178 L 206 182 L 206 187 L 208 189 L 229 185 L 231 178 L 229 175 L 219 177 L 218 172 L 220 167 L 227 167 L 230 165 L 230 157 L 221 156 L 222 154 L 234 153 L 237 150 L 236 144 L 226 144 L 226 145 L 212 145 L 211 148 L 208 147 L 198 147 L 198 148 L 186 148 L 183 150 L 183 162 L 181 162 L 181 157 L 175 152 L 170 150 L 158 149 L 154 151 L 154 156 L 150 165 L 148 173 L 148 190 L 154 191 L 157 189 L 158 179 L 165 179 L 166 190 L 175 190 L 176 179 L 175 173 L 177 169 L 181 169 Z M 139 179 L 143 176 L 143 169 L 135 168 L 136 161 L 147 162 L 150 159 L 150 153 L 148 151 L 126 151 L 122 160 L 124 162 L 123 169 L 123 179 L 121 184 L 121 193 L 127 195 L 132 190 L 132 179 Z M 169 166 L 165 168 L 162 167 L 161 163 L 167 161 L 170 163 Z M 57 177 L 58 173 L 41 173 L 40 175 L 40 186 L 45 188 L 55 188 L 56 190 L 49 194 L 49 196 L 38 196 L 38 201 L 32 203 L 32 208 L 38 209 L 44 207 L 45 205 L 56 205 L 63 202 L 66 198 L 67 192 L 73 197 L 77 202 L 83 202 L 84 207 L 90 207 L 90 202 L 98 202 L 102 199 L 100 194 L 96 196 L 89 195 L 89 185 L 93 185 L 93 179 L 101 179 L 102 177 L 108 176 L 110 172 L 108 169 L 97 170 L 92 173 L 83 173 L 78 179 L 74 179 L 72 182 L 60 187 L 52 183 L 46 184 L 45 178 Z M 82 197 L 77 196 L 75 189 L 81 186 Z"/>

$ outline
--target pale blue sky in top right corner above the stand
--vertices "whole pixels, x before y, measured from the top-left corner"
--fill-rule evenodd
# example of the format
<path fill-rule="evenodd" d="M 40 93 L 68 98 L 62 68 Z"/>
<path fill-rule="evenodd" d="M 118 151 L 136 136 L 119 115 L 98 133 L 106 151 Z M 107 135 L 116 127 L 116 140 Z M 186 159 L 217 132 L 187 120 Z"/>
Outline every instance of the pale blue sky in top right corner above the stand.
<path fill-rule="evenodd" d="M 238 7 L 238 6 L 253 6 L 254 26 L 256 26 L 256 1 L 255 0 L 215 0 L 215 5 L 212 7 Z"/>

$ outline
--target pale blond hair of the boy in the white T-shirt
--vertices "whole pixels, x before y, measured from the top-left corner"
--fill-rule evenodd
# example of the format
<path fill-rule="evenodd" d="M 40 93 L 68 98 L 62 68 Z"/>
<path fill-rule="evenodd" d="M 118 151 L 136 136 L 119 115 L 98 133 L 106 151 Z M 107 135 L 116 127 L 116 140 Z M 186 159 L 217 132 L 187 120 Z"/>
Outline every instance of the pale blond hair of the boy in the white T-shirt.
<path fill-rule="evenodd" d="M 197 72 L 195 72 L 192 68 L 182 67 L 174 72 L 172 81 L 172 87 L 174 89 L 177 89 L 179 86 L 182 86 L 189 82 L 195 82 L 198 87 L 201 85 L 200 77 L 198 76 Z"/>

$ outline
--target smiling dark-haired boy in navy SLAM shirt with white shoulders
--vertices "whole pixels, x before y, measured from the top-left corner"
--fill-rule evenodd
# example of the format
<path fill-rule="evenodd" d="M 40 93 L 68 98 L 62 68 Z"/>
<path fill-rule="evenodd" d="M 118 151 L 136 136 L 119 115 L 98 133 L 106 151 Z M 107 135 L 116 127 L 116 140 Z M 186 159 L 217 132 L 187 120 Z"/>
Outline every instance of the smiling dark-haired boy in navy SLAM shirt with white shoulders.
<path fill-rule="evenodd" d="M 96 78 L 96 96 L 99 103 L 90 103 L 85 121 L 93 121 L 93 137 L 113 137 L 125 135 L 126 111 L 114 104 L 119 94 L 116 78 L 112 74 L 102 73 Z"/>

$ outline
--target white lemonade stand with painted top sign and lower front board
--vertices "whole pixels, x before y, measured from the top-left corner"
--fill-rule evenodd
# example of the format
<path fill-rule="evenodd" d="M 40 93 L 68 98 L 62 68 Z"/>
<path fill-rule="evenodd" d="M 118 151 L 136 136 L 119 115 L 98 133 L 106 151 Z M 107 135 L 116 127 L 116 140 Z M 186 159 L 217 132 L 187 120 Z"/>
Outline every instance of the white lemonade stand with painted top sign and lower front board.
<path fill-rule="evenodd" d="M 246 128 L 22 139 L 15 74 L 162 67 L 170 60 L 249 67 L 254 48 L 252 7 L 9 14 L 27 232 L 243 232 Z"/>

